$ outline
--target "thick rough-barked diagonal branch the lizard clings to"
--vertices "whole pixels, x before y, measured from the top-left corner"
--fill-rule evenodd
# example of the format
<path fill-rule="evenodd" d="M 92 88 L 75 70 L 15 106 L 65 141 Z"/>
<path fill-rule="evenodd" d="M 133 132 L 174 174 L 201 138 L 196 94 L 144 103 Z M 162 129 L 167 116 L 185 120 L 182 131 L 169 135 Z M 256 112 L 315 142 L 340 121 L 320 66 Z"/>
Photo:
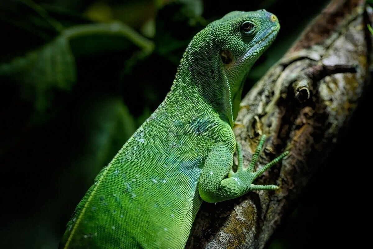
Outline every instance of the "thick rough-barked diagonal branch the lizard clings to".
<path fill-rule="evenodd" d="M 336 143 L 370 81 L 372 11 L 364 0 L 333 0 L 242 100 L 234 129 L 247 166 L 261 134 L 257 169 L 290 155 L 257 180 L 277 184 L 241 198 L 204 203 L 187 248 L 263 248 Z"/>

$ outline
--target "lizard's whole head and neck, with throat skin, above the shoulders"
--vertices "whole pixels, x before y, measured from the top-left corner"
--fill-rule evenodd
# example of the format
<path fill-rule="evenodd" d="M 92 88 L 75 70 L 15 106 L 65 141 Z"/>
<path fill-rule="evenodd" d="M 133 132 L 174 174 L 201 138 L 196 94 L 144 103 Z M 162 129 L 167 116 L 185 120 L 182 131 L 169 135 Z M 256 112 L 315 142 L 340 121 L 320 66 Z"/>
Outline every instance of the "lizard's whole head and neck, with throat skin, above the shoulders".
<path fill-rule="evenodd" d="M 198 32 L 185 50 L 175 84 L 191 87 L 233 127 L 245 78 L 280 29 L 266 10 L 234 11 Z"/>

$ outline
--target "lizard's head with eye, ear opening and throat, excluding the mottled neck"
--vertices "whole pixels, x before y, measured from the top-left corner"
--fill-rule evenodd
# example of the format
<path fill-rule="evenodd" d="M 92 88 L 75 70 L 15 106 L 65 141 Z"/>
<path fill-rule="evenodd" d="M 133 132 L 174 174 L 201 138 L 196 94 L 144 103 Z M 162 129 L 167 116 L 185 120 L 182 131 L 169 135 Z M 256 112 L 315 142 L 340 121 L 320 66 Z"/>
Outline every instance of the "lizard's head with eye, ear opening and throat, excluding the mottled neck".
<path fill-rule="evenodd" d="M 238 112 L 245 78 L 258 57 L 272 44 L 280 24 L 275 15 L 266 10 L 230 12 L 211 22 L 210 30 L 219 68 L 229 84 L 232 116 Z"/>

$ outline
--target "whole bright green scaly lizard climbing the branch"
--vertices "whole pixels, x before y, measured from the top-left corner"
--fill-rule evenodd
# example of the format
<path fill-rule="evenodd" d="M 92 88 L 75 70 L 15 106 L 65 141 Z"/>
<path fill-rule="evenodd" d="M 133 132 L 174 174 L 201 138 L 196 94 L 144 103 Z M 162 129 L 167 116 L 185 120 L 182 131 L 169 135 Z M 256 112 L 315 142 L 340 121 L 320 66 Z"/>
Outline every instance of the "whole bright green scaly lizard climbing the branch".
<path fill-rule="evenodd" d="M 253 172 L 263 136 L 244 169 L 232 127 L 245 77 L 279 27 L 265 10 L 235 11 L 195 35 L 166 99 L 97 175 L 60 248 L 184 248 L 203 200 L 277 188 L 252 182 L 287 152 Z"/>

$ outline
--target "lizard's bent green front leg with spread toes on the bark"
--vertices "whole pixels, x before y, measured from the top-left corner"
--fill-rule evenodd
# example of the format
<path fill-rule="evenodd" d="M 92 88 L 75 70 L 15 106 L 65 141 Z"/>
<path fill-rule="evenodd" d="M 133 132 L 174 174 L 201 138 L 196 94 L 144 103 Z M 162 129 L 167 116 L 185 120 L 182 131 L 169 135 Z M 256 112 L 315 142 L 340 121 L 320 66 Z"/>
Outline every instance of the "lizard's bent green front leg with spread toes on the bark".
<path fill-rule="evenodd" d="M 263 174 L 264 171 L 275 165 L 282 158 L 289 154 L 283 152 L 273 161 L 264 165 L 263 168 L 253 172 L 258 155 L 263 147 L 266 136 L 262 136 L 257 146 L 256 152 L 250 162 L 250 165 L 244 169 L 242 165 L 241 147 L 237 144 L 238 167 L 237 172 L 231 171 L 233 165 L 232 145 L 217 143 L 207 156 L 204 163 L 198 190 L 201 198 L 206 202 L 221 202 L 241 196 L 251 190 L 273 190 L 277 189 L 275 185 L 255 185 L 253 181 Z M 228 175 L 228 178 L 226 177 Z"/>

